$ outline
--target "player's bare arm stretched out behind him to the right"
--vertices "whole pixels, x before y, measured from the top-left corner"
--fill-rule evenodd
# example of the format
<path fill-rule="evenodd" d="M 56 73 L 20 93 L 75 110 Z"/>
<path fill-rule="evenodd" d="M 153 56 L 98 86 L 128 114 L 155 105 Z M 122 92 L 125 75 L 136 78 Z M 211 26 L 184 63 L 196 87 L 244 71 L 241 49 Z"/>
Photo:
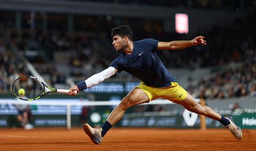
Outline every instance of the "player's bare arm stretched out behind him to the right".
<path fill-rule="evenodd" d="M 171 42 L 158 42 L 158 49 L 165 49 L 165 50 L 179 50 L 188 48 L 191 46 L 196 46 L 202 43 L 206 45 L 206 41 L 204 40 L 203 36 L 197 36 L 192 40 L 182 40 L 182 41 L 171 41 Z"/>

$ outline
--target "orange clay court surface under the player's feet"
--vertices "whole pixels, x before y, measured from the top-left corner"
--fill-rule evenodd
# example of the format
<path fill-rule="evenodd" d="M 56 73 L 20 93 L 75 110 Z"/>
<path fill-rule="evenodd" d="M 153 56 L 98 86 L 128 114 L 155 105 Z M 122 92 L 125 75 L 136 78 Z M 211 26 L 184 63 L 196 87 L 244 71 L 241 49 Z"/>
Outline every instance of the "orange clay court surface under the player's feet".
<path fill-rule="evenodd" d="M 256 150 L 256 130 L 112 128 L 99 145 L 83 128 L 0 129 L 0 150 Z"/>

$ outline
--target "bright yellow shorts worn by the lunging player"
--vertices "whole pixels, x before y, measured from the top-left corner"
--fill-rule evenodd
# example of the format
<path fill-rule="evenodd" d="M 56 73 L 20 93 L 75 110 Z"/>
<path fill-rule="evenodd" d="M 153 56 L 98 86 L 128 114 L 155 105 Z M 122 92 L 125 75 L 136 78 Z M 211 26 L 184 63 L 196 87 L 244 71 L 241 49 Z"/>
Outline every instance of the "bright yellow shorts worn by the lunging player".
<path fill-rule="evenodd" d="M 136 86 L 143 90 L 150 100 L 157 98 L 164 98 L 171 100 L 172 102 L 181 101 L 188 97 L 189 93 L 179 86 L 176 82 L 171 82 L 171 86 L 168 87 L 151 87 L 147 86 L 143 82 L 140 85 Z"/>

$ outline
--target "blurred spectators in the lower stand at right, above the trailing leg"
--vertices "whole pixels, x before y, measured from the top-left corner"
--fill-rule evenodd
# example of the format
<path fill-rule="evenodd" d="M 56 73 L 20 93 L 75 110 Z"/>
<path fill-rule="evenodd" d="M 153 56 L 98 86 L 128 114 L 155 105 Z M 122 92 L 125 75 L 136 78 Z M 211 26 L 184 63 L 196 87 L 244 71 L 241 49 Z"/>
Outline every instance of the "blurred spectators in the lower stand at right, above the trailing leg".
<path fill-rule="evenodd" d="M 256 55 L 254 53 L 253 57 Z M 201 79 L 188 87 L 191 95 L 197 98 L 233 98 L 256 96 L 256 64 L 252 62 L 239 67 L 228 68 Z"/>

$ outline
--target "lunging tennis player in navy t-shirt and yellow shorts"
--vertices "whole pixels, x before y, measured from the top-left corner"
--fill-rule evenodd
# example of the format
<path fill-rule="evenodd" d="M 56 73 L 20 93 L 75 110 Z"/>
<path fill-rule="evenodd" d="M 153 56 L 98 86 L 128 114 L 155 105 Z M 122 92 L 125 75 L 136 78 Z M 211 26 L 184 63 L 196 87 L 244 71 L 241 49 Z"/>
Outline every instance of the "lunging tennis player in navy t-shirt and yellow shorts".
<path fill-rule="evenodd" d="M 128 26 L 112 29 L 111 36 L 113 37 L 112 44 L 114 48 L 117 52 L 121 52 L 120 56 L 106 70 L 94 74 L 85 81 L 71 87 L 70 95 L 76 95 L 74 91 L 79 92 L 95 86 L 116 72 L 121 71 L 127 71 L 138 77 L 141 84 L 122 99 L 101 128 L 92 128 L 89 124 L 84 124 L 84 131 L 93 143 L 101 143 L 107 131 L 122 118 L 124 112 L 130 106 L 148 103 L 159 97 L 183 105 L 184 108 L 196 114 L 215 119 L 226 126 L 236 139 L 242 138 L 241 129 L 229 117 L 221 116 L 208 106 L 201 106 L 183 87 L 179 86 L 177 80 L 167 71 L 155 51 L 155 49 L 184 49 L 201 43 L 206 45 L 203 36 L 197 36 L 189 41 L 160 42 L 154 39 L 133 41 L 133 32 Z"/>

